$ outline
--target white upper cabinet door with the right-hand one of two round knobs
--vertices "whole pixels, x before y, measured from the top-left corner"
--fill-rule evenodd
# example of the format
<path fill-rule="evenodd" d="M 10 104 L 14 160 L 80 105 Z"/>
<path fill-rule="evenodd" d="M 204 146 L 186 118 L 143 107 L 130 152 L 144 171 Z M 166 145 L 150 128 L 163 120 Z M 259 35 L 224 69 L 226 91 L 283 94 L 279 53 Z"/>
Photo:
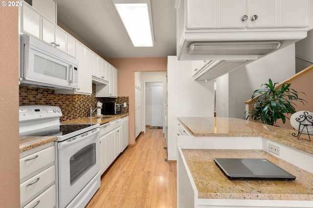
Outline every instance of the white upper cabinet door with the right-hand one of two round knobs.
<path fill-rule="evenodd" d="M 283 0 L 284 1 L 284 0 Z M 247 28 L 277 27 L 278 0 L 248 0 Z M 252 21 L 252 17 L 257 17 Z"/>

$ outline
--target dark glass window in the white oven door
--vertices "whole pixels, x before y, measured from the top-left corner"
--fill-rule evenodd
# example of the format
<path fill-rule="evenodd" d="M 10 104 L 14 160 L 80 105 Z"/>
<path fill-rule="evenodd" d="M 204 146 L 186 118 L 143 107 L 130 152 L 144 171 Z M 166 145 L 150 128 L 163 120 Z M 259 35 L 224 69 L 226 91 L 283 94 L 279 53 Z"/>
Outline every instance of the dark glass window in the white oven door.
<path fill-rule="evenodd" d="M 69 159 L 70 186 L 96 164 L 96 145 L 90 144 Z"/>

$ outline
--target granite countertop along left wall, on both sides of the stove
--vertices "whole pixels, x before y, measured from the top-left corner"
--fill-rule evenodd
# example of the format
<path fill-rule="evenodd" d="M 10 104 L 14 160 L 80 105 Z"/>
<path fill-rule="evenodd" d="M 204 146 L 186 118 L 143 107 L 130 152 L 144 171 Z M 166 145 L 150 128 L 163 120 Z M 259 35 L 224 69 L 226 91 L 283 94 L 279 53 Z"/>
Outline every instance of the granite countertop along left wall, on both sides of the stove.
<path fill-rule="evenodd" d="M 80 118 L 74 120 L 68 120 L 65 122 L 61 122 L 61 124 L 105 124 L 115 119 L 123 118 L 128 116 L 128 113 L 122 113 L 117 115 L 102 115 L 102 116 L 94 116 L 91 118 Z M 99 119 L 100 117 L 109 117 L 104 119 Z M 50 142 L 56 141 L 57 138 L 55 136 L 47 136 L 47 137 L 39 137 L 39 136 L 23 136 L 20 137 L 20 153 L 37 146 L 45 145 Z"/>

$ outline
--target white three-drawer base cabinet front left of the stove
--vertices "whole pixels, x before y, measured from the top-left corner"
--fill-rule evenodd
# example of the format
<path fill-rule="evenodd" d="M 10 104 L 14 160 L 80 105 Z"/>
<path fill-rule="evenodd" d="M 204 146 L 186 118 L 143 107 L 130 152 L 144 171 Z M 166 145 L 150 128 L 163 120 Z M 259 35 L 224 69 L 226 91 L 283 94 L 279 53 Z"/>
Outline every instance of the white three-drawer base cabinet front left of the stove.
<path fill-rule="evenodd" d="M 53 143 L 20 153 L 21 207 L 52 208 L 56 204 Z"/>

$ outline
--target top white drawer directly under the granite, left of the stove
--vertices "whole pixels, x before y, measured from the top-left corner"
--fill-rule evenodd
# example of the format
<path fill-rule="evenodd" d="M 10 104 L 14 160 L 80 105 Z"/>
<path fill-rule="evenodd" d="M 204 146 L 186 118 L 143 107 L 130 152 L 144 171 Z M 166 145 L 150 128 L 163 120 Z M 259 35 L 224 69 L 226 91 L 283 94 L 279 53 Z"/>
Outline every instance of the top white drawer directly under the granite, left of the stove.
<path fill-rule="evenodd" d="M 54 164 L 54 146 L 30 154 L 20 159 L 20 181 L 38 174 L 48 166 Z"/>

